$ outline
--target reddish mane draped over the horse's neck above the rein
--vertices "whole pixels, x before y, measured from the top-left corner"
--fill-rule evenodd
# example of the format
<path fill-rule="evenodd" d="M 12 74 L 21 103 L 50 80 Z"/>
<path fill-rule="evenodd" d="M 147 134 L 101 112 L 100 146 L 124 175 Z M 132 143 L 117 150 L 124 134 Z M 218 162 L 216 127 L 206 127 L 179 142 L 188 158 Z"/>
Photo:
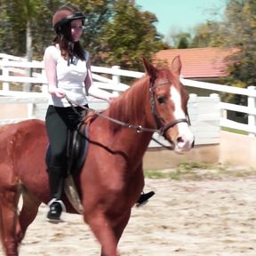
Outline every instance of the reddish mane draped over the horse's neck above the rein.
<path fill-rule="evenodd" d="M 128 90 L 111 102 L 109 116 L 122 122 L 140 124 L 141 117 L 145 114 L 141 108 L 147 108 L 145 104 L 149 99 L 148 84 L 148 76 L 136 80 Z"/>

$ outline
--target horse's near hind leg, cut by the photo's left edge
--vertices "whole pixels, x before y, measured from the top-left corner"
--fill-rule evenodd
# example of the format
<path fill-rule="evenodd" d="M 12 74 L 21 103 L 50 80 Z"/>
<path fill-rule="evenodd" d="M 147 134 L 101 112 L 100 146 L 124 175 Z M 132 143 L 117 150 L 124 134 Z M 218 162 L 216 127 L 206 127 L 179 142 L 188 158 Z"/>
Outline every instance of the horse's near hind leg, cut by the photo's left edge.
<path fill-rule="evenodd" d="M 18 241 L 16 239 L 18 195 L 16 191 L 0 193 L 1 240 L 7 256 L 18 256 Z"/>

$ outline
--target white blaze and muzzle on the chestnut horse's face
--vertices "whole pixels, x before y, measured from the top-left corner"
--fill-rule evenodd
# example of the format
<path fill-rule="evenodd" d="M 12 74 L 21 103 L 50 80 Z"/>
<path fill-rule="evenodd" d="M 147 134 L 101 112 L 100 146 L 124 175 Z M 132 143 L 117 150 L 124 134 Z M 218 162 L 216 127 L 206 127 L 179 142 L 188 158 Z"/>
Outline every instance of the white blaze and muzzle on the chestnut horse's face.
<path fill-rule="evenodd" d="M 174 104 L 173 116 L 175 120 L 180 118 L 186 118 L 186 114 L 182 109 L 181 95 L 175 86 L 171 86 L 171 97 Z M 178 128 L 178 137 L 177 141 L 174 141 L 175 148 L 174 150 L 178 153 L 188 151 L 192 147 L 194 141 L 194 135 L 190 131 L 188 124 L 186 122 L 181 122 L 176 124 Z"/>

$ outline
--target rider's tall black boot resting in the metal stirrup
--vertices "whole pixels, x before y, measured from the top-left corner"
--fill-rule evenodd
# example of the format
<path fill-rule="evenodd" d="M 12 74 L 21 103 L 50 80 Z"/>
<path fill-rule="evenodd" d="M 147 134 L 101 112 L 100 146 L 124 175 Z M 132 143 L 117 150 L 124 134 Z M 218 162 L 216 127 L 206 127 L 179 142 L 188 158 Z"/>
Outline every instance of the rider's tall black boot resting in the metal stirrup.
<path fill-rule="evenodd" d="M 48 168 L 48 172 L 52 200 L 47 204 L 49 206 L 47 220 L 59 222 L 61 212 L 66 212 L 65 205 L 60 200 L 64 183 L 63 173 L 57 168 Z"/>

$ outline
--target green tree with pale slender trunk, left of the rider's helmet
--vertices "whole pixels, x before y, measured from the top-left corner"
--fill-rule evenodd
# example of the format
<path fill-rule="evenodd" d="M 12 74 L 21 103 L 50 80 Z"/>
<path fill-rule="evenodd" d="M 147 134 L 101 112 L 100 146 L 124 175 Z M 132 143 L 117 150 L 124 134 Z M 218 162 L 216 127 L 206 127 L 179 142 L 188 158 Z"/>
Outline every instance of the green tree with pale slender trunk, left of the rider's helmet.
<path fill-rule="evenodd" d="M 44 48 L 40 47 L 43 44 L 45 47 L 52 33 L 52 12 L 48 7 L 58 6 L 60 2 L 0 0 L 1 51 L 18 56 L 26 55 L 29 60 L 33 52 L 33 57 L 40 55 L 42 59 Z"/>

